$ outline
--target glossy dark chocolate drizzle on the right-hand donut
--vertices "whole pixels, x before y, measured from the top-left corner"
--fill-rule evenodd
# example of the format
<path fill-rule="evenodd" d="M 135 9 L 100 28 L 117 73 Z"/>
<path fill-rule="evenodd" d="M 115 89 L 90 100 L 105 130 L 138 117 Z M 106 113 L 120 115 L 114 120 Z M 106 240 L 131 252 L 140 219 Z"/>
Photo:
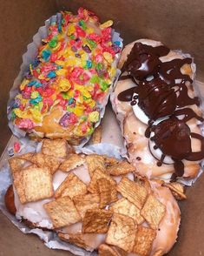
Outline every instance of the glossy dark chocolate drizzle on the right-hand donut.
<path fill-rule="evenodd" d="M 193 80 L 181 72 L 181 67 L 191 64 L 192 59 L 173 59 L 162 63 L 160 57 L 169 53 L 166 46 L 149 46 L 135 43 L 122 66 L 122 76 L 119 80 L 131 78 L 135 87 L 122 91 L 118 95 L 120 101 L 138 104 L 149 118 L 145 136 L 154 136 L 154 148 L 162 152 L 157 165 L 161 166 L 166 156 L 174 161 L 174 176 L 181 177 L 184 173 L 183 159 L 197 161 L 204 158 L 204 138 L 191 132 L 188 120 L 196 118 L 203 122 L 188 105 L 199 105 L 199 98 L 188 96 L 188 86 Z M 127 71 L 128 75 L 123 75 Z M 179 79 L 179 80 L 178 80 Z M 136 82 L 137 81 L 137 82 Z M 179 83 L 178 83 L 179 82 Z M 185 107 L 185 108 L 184 108 Z M 158 125 L 153 125 L 158 118 L 169 117 Z M 179 118 L 180 117 L 180 118 Z M 201 140 L 201 152 L 192 152 L 191 138 Z"/>

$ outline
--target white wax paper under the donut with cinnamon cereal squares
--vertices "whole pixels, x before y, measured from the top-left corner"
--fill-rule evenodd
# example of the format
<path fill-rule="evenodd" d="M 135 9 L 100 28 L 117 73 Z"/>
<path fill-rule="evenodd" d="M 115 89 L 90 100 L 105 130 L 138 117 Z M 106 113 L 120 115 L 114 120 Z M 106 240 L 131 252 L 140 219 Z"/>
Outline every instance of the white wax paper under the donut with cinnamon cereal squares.
<path fill-rule="evenodd" d="M 7 191 L 7 188 L 10 184 L 12 184 L 12 179 L 10 176 L 10 167 L 8 164 L 8 151 L 10 152 L 10 147 L 12 145 L 18 142 L 21 144 L 21 149 L 18 153 L 15 154 L 17 156 L 18 154 L 23 154 L 26 152 L 39 152 L 42 143 L 36 143 L 33 141 L 30 141 L 27 138 L 21 138 L 20 140 L 12 137 L 10 139 L 10 143 L 8 144 L 7 148 L 5 149 L 5 152 L 3 153 L 3 156 L 1 158 L 1 172 L 0 172 L 0 210 L 10 219 L 10 221 L 23 233 L 35 233 L 40 239 L 44 241 L 45 246 L 48 246 L 52 249 L 61 249 L 66 250 L 71 253 L 74 253 L 75 255 L 81 255 L 81 256 L 94 256 L 96 255 L 95 252 L 88 252 L 85 251 L 77 246 L 70 245 L 69 243 L 65 243 L 62 240 L 58 239 L 55 232 L 51 231 L 43 231 L 39 228 L 32 228 L 23 225 L 22 222 L 17 220 L 14 216 L 12 216 L 5 208 L 4 205 L 4 194 Z M 78 149 L 79 152 L 83 152 L 85 154 L 91 154 L 91 153 L 97 153 L 97 154 L 108 154 L 111 157 L 115 158 L 121 158 L 121 152 L 119 146 L 110 145 L 108 143 L 102 143 L 97 145 L 89 145 L 86 148 Z"/>

